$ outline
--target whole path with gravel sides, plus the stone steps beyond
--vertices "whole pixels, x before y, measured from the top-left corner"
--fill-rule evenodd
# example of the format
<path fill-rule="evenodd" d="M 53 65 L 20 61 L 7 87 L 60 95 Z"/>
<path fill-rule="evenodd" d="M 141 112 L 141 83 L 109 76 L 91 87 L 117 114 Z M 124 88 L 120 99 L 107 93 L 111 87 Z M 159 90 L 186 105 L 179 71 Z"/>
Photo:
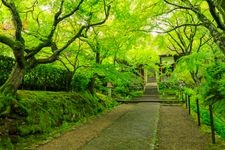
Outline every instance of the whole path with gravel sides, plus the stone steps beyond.
<path fill-rule="evenodd" d="M 39 150 L 207 150 L 203 134 L 180 105 L 157 101 L 155 84 L 148 84 L 140 103 L 122 104 L 88 123 L 39 146 Z"/>

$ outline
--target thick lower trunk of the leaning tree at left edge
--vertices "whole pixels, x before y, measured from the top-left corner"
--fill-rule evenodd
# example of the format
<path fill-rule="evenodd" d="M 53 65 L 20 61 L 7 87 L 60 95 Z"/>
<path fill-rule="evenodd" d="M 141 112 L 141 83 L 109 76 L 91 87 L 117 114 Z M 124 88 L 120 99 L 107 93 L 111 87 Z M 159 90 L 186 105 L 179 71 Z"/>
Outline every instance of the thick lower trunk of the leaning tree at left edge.
<path fill-rule="evenodd" d="M 0 87 L 0 94 L 4 96 L 15 96 L 22 83 L 25 68 L 16 65 L 7 81 Z"/>

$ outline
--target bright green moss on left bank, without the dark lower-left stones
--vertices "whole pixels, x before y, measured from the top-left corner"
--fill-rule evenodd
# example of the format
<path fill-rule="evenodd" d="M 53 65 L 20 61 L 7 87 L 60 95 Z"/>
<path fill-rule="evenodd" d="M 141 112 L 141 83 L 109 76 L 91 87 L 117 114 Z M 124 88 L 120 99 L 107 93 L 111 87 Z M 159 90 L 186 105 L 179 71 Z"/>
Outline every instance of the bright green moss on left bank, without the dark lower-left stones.
<path fill-rule="evenodd" d="M 95 96 L 83 93 L 19 91 L 18 103 L 27 111 L 25 118 L 16 118 L 16 129 L 12 135 L 17 136 L 14 144 L 21 147 L 35 137 L 51 135 L 61 127 L 77 123 L 94 116 L 117 103 L 105 95 Z M 7 144 L 8 145 L 8 144 Z"/>

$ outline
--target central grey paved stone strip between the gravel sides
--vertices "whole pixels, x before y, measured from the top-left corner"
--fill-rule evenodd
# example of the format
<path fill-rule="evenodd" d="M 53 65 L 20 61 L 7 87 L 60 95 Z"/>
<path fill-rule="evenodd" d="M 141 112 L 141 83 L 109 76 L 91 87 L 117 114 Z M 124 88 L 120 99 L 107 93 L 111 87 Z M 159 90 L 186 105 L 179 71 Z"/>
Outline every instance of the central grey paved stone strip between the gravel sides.
<path fill-rule="evenodd" d="M 80 149 L 154 150 L 159 104 L 128 105 L 134 106 Z"/>

